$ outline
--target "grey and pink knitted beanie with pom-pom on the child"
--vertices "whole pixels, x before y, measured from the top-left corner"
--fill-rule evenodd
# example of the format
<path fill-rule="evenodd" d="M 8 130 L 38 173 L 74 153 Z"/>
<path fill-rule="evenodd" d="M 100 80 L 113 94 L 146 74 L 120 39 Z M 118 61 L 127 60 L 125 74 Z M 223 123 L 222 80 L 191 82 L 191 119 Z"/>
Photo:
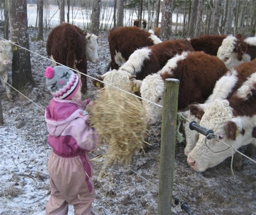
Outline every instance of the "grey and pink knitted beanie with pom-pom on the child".
<path fill-rule="evenodd" d="M 77 74 L 64 66 L 47 67 L 44 76 L 47 89 L 59 99 L 71 99 L 80 86 Z"/>

